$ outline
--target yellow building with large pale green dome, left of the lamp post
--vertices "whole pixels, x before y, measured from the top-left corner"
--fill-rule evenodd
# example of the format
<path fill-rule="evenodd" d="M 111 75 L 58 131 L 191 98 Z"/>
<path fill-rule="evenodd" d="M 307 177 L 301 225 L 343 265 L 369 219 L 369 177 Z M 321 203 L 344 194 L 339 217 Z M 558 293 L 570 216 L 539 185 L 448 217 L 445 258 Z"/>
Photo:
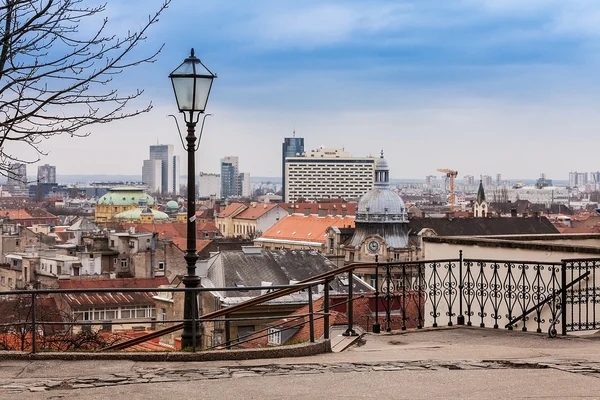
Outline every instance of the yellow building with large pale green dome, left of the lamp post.
<path fill-rule="evenodd" d="M 140 200 L 149 208 L 156 209 L 156 201 L 152 196 L 144 193 L 143 189 L 125 186 L 112 188 L 98 199 L 94 222 L 108 222 L 119 213 L 137 209 Z"/>

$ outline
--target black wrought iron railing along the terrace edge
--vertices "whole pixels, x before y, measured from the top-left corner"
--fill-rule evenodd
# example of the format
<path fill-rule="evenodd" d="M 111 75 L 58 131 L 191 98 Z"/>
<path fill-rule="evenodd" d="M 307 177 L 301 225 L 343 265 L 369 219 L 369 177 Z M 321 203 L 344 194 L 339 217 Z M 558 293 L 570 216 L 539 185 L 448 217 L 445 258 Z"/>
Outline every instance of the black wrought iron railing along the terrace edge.
<path fill-rule="evenodd" d="M 247 295 L 248 291 L 265 291 L 260 296 L 231 307 L 216 309 L 191 320 L 194 329 L 203 329 L 214 324 L 224 332 L 225 340 L 211 345 L 193 342 L 192 351 L 197 348 L 231 349 L 253 342 L 264 342 L 269 329 L 277 328 L 281 332 L 309 326 L 308 340 L 318 339 L 315 323 L 323 324 L 322 337 L 329 339 L 331 310 L 342 308 L 347 314 L 345 335 L 355 335 L 355 322 L 374 321 L 372 331 L 379 333 L 425 326 L 467 325 L 500 328 L 508 330 L 520 327 L 522 331 L 534 329 L 542 332 L 552 331 L 555 325 L 561 325 L 561 333 L 568 330 L 598 329 L 600 322 L 596 315 L 600 313 L 600 288 L 596 282 L 596 268 L 600 259 L 563 260 L 562 262 L 506 261 L 485 259 L 463 259 L 460 252 L 457 259 L 423 260 L 413 262 L 375 262 L 355 263 L 337 268 L 330 272 L 311 277 L 294 285 L 224 287 L 224 288 L 146 288 L 146 289 L 43 289 L 14 291 L 5 293 L 19 300 L 19 312 L 8 318 L 6 301 L 4 302 L 4 320 L 0 321 L 0 334 L 13 334 L 21 339 L 20 349 L 40 350 L 47 345 L 45 339 L 56 332 L 70 332 L 74 327 L 93 327 L 114 325 L 140 325 L 139 321 L 81 321 L 75 318 L 52 318 L 44 315 L 45 299 L 59 299 L 72 294 L 128 294 L 128 293 L 181 293 L 193 292 L 193 308 L 198 308 L 198 296 L 204 292 L 238 292 Z M 332 300 L 329 283 L 338 276 L 344 276 L 349 283 L 347 293 L 338 293 Z M 369 276 L 370 275 L 370 276 Z M 374 282 L 372 293 L 354 293 L 353 280 L 363 277 Z M 370 279 L 369 279 L 370 278 Z M 600 279 L 600 276 L 599 276 Z M 322 290 L 319 292 L 319 288 Z M 243 315 L 253 307 L 269 304 L 283 296 L 303 291 L 308 312 L 290 317 L 282 315 Z M 315 296 L 323 296 L 322 306 L 314 309 Z M 368 315 L 354 312 L 354 303 L 358 298 L 369 302 Z M 363 301 L 365 301 L 363 300 Z M 58 301 L 58 300 L 57 300 Z M 59 301 L 60 302 L 60 301 Z M 337 302 L 337 303 L 336 303 Z M 299 308 L 300 306 L 298 306 Z M 194 314 L 197 315 L 197 314 Z M 560 317 L 560 318 L 559 318 Z M 10 319 L 10 320 L 7 320 Z M 12 319 L 11 319 L 12 318 Z M 277 322 L 288 318 L 285 322 Z M 533 321 L 530 320 L 533 319 Z M 260 329 L 231 337 L 232 324 L 244 321 L 258 322 Z M 95 343 L 92 350 L 120 350 L 135 346 L 148 340 L 181 330 L 183 319 L 158 318 L 152 323 L 164 327 L 140 337 L 112 343 Z M 196 331 L 196 333 L 199 331 Z M 40 340 L 43 336 L 44 340 Z M 193 337 L 196 338 L 194 333 Z M 0 347 L 2 342 L 0 340 Z M 51 346 L 50 346 L 51 347 Z"/>

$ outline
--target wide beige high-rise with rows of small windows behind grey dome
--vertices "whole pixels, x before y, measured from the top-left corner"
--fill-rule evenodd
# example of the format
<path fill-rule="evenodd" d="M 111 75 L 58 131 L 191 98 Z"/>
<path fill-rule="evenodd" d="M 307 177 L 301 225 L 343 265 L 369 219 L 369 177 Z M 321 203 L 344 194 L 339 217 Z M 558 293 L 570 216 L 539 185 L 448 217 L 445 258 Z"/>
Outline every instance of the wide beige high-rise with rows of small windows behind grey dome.
<path fill-rule="evenodd" d="M 373 188 L 373 157 L 352 157 L 343 149 L 319 148 L 285 159 L 285 199 L 358 199 Z"/>

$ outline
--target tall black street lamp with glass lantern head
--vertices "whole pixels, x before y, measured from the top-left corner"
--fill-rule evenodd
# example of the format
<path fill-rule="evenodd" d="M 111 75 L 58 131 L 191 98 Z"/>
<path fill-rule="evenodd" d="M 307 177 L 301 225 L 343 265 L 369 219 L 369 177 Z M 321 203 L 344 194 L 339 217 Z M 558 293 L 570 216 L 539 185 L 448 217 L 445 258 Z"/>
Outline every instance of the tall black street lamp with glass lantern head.
<path fill-rule="evenodd" d="M 196 124 L 200 116 L 204 114 L 213 79 L 217 75 L 210 72 L 208 68 L 194 56 L 194 49 L 190 56 L 183 63 L 171 72 L 169 78 L 173 84 L 177 108 L 183 113 L 183 119 L 187 126 L 187 146 L 188 154 L 188 183 L 187 183 L 187 249 L 185 251 L 185 261 L 187 263 L 187 273 L 183 277 L 183 285 L 186 288 L 197 288 L 200 286 L 200 278 L 196 275 L 196 165 L 194 153 L 196 147 Z M 205 115 L 206 117 L 206 115 Z M 198 136 L 198 141 L 202 137 L 202 128 Z M 181 334 L 181 348 L 189 348 L 198 343 L 199 325 L 197 320 L 198 306 L 194 299 L 195 292 L 185 292 L 183 303 L 183 333 Z"/>

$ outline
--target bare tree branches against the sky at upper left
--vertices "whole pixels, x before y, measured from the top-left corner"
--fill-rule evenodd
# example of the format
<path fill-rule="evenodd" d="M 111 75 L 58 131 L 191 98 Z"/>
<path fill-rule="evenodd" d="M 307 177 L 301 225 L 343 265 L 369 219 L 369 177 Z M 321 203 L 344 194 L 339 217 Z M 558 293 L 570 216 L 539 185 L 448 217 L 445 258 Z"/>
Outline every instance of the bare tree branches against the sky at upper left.
<path fill-rule="evenodd" d="M 0 0 L 0 175 L 7 176 L 12 163 L 38 161 L 43 142 L 53 136 L 85 137 L 90 125 L 150 111 L 152 103 L 131 109 L 143 90 L 122 93 L 113 77 L 156 61 L 163 46 L 147 56 L 133 52 L 170 2 L 164 0 L 141 29 L 118 37 L 107 33 L 107 18 L 88 35 L 79 29 L 102 15 L 106 4 Z M 15 142 L 26 143 L 38 159 L 14 154 Z"/>

